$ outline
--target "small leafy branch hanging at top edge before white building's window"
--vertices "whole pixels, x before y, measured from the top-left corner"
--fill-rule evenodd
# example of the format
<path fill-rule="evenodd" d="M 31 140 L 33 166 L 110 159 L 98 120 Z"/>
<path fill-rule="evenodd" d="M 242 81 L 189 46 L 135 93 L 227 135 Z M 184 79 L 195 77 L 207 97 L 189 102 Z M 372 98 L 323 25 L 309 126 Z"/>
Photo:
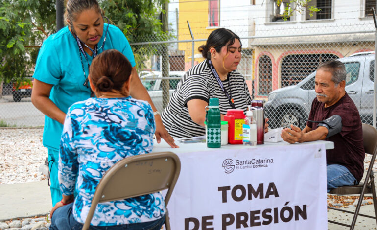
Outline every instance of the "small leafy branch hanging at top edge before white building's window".
<path fill-rule="evenodd" d="M 283 3 L 287 2 L 286 0 L 275 0 L 278 7 Z M 289 0 L 287 2 L 286 7 L 283 12 L 283 20 L 287 21 L 292 15 L 294 11 L 297 11 L 299 13 L 303 11 L 309 11 L 310 17 L 313 16 L 314 12 L 321 11 L 321 9 L 316 8 L 316 6 L 310 6 L 309 2 L 311 0 Z M 293 6 L 293 7 L 291 7 Z"/>

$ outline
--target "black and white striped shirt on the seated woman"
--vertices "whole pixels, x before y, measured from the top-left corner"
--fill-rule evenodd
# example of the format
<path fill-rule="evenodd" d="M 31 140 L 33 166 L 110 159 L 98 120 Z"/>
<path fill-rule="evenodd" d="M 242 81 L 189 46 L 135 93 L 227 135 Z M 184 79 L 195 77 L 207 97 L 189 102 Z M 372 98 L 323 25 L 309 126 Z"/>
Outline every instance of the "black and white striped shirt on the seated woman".
<path fill-rule="evenodd" d="M 237 71 L 232 71 L 228 75 L 228 79 L 222 83 L 226 92 L 232 93 L 236 109 L 243 109 L 246 113 L 247 106 L 251 104 L 251 97 L 243 76 Z M 187 102 L 192 99 L 201 99 L 209 103 L 211 97 L 219 98 L 221 114 L 225 115 L 227 110 L 232 109 L 229 98 L 222 91 L 204 60 L 185 73 L 161 115 L 169 134 L 173 138 L 205 135 L 205 128 L 192 121 L 188 113 Z"/>

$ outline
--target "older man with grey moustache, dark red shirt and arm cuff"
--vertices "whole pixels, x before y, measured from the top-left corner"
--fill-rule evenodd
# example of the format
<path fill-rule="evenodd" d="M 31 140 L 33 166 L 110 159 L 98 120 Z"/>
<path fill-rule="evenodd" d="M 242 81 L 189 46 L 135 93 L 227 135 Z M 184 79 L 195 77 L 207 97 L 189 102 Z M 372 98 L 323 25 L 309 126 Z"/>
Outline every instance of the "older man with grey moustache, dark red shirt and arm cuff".
<path fill-rule="evenodd" d="M 315 92 L 309 120 L 323 121 L 333 115 L 341 117 L 341 129 L 335 133 L 331 127 L 308 121 L 306 127 L 291 125 L 282 131 L 289 143 L 314 140 L 334 142 L 334 149 L 326 150 L 327 188 L 355 185 L 364 172 L 363 132 L 359 112 L 345 91 L 346 69 L 342 62 L 331 60 L 321 63 L 315 75 Z M 329 133 L 330 131 L 330 133 Z"/>

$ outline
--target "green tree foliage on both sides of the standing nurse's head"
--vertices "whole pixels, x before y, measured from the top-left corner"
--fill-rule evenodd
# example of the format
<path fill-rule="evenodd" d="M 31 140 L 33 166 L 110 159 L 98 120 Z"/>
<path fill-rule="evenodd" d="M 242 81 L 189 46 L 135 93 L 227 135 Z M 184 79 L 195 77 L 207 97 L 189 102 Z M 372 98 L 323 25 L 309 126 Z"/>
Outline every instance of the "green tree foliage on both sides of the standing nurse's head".
<path fill-rule="evenodd" d="M 99 0 L 130 43 L 168 38 L 158 19 L 167 0 Z M 43 41 L 56 32 L 56 0 L 0 0 L 0 82 L 32 75 Z M 150 38 L 150 40 L 148 40 Z M 156 49 L 134 48 L 137 63 Z"/>

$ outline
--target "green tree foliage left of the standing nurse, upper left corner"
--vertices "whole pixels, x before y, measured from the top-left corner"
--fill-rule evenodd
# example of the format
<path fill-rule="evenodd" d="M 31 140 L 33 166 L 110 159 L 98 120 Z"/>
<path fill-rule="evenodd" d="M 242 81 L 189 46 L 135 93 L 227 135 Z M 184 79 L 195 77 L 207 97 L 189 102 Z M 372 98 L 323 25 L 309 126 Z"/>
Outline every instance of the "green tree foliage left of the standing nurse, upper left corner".
<path fill-rule="evenodd" d="M 55 0 L 0 1 L 0 82 L 32 74 L 39 46 L 55 32 Z"/>

